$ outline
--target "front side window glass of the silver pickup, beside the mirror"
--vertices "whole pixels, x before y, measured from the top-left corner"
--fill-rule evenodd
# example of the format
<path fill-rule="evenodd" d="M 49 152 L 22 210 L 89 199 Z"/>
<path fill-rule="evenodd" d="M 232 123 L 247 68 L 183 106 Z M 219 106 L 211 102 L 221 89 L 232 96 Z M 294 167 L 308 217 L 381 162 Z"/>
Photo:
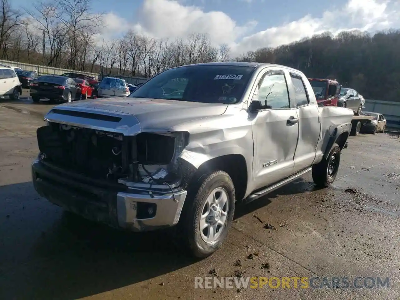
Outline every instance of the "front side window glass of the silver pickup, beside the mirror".
<path fill-rule="evenodd" d="M 260 80 L 258 101 L 268 108 L 290 108 L 288 87 L 283 73 L 268 74 Z"/>

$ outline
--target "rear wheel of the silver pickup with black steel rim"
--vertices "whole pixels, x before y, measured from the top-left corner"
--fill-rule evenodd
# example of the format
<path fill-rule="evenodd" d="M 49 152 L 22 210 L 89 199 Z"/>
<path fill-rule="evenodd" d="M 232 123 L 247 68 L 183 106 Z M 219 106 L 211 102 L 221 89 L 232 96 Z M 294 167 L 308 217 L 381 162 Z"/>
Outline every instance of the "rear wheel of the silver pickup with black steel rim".
<path fill-rule="evenodd" d="M 332 165 L 333 164 L 333 165 Z M 334 182 L 340 164 L 340 147 L 333 144 L 328 158 L 312 166 L 312 180 L 318 187 L 327 187 Z"/>

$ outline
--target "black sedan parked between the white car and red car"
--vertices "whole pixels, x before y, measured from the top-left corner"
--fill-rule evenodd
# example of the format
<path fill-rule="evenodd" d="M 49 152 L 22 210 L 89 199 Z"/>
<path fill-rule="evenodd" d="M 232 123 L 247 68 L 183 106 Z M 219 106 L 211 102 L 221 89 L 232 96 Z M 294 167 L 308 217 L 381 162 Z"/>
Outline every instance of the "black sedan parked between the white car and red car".
<path fill-rule="evenodd" d="M 72 79 L 58 75 L 44 75 L 34 80 L 29 85 L 30 96 L 33 102 L 40 99 L 72 102 L 82 99 L 82 91 Z"/>

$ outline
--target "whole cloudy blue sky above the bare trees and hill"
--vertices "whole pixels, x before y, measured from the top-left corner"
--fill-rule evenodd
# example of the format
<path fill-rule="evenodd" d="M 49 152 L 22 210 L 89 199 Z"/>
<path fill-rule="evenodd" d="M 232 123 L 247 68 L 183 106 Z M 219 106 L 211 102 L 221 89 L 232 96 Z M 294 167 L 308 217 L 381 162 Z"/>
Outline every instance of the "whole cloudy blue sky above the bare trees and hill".
<path fill-rule="evenodd" d="M 18 8 L 26 1 L 11 3 Z M 105 40 L 128 30 L 170 39 L 198 32 L 215 45 L 228 44 L 234 54 L 324 31 L 400 28 L 399 0 L 92 0 L 92 8 L 104 13 Z"/>

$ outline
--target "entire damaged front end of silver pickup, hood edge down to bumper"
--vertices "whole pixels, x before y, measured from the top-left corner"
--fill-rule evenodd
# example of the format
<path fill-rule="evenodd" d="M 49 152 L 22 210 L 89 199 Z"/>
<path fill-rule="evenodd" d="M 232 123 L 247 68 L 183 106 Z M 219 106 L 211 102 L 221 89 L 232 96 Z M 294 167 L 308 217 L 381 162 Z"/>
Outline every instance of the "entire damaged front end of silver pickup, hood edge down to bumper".
<path fill-rule="evenodd" d="M 178 223 L 188 132 L 144 132 L 133 115 L 57 107 L 37 130 L 36 191 L 89 220 L 132 231 Z M 187 176 L 186 176 L 187 177 Z"/>

